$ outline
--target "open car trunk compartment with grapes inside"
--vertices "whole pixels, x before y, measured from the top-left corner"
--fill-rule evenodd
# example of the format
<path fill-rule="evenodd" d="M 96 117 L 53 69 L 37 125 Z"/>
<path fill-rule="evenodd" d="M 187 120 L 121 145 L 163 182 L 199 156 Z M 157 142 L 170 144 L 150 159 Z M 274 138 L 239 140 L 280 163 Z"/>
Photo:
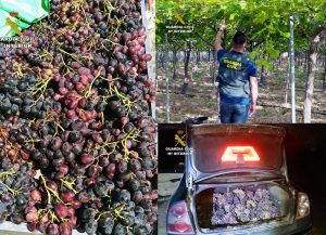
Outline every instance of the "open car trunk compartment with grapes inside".
<path fill-rule="evenodd" d="M 214 230 L 290 218 L 290 191 L 275 182 L 246 185 L 216 185 L 195 198 L 200 229 Z"/>

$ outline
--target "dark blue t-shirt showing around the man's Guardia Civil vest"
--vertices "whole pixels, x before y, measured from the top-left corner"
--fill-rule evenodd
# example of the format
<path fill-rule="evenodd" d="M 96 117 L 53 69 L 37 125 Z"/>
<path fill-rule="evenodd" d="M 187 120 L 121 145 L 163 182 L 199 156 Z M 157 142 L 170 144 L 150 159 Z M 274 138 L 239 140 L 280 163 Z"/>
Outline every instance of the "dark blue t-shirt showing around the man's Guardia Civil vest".
<path fill-rule="evenodd" d="M 223 55 L 227 53 L 224 49 L 220 49 L 217 51 L 217 60 L 221 63 L 221 58 L 223 57 Z M 236 52 L 236 51 L 230 51 L 228 53 L 233 53 L 233 54 L 237 54 L 239 56 L 242 55 L 242 53 L 240 52 Z M 254 64 L 253 61 L 249 61 L 249 66 L 246 70 L 246 77 L 249 80 L 249 77 L 256 77 L 256 66 Z M 231 96 L 228 94 L 220 94 L 221 95 L 221 102 L 225 102 L 225 103 L 230 103 L 230 104 L 249 104 L 249 99 L 247 97 L 236 97 L 236 96 Z"/>

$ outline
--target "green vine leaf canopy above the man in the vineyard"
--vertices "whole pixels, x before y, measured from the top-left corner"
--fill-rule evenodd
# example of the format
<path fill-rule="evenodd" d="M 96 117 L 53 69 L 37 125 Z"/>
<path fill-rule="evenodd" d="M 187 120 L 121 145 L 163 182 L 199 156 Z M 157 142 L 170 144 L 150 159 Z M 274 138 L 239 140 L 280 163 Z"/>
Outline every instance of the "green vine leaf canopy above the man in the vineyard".
<path fill-rule="evenodd" d="M 164 48 L 166 26 L 193 25 L 191 34 L 168 34 L 168 45 L 184 49 L 185 40 L 191 40 L 198 50 L 212 49 L 216 28 L 225 18 L 226 42 L 242 30 L 248 50 L 253 48 L 250 56 L 271 67 L 267 57 L 288 51 L 289 16 L 294 17 L 294 47 L 300 51 L 306 49 L 318 25 L 326 25 L 325 9 L 325 0 L 156 0 L 156 44 Z"/>

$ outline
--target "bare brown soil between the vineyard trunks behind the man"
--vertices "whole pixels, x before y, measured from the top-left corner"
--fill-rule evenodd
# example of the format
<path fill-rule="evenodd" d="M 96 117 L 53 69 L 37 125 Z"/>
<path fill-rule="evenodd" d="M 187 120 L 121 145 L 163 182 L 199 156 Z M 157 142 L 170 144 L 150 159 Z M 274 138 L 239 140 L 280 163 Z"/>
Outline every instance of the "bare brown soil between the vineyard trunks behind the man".
<path fill-rule="evenodd" d="M 287 65 L 278 70 L 271 71 L 266 83 L 259 89 L 256 113 L 250 118 L 251 123 L 289 123 L 291 122 L 290 99 L 288 91 L 288 104 L 285 103 Z M 172 77 L 172 67 L 168 67 Z M 322 70 L 322 68 L 321 68 Z M 165 77 L 164 70 L 158 66 L 156 90 L 156 120 L 165 122 Z M 302 109 L 305 95 L 305 73 L 302 68 L 296 70 L 296 102 L 297 122 L 302 122 Z M 199 69 L 193 73 L 189 82 L 188 94 L 180 94 L 184 82 L 184 67 L 178 64 L 177 79 L 171 79 L 171 122 L 180 122 L 189 117 L 206 116 L 210 122 L 217 121 L 216 88 L 212 84 L 206 63 L 202 62 Z M 322 92 L 322 73 L 316 74 L 314 82 L 312 122 L 326 122 L 326 94 Z"/>

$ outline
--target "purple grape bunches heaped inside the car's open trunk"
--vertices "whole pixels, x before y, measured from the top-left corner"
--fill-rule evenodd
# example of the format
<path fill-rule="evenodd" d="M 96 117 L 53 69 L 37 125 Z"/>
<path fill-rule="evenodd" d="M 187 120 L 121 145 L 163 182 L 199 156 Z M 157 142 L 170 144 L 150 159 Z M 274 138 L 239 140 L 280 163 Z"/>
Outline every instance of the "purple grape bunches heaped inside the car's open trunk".
<path fill-rule="evenodd" d="M 265 188 L 234 190 L 213 194 L 212 225 L 229 225 L 280 217 L 280 211 Z"/>

